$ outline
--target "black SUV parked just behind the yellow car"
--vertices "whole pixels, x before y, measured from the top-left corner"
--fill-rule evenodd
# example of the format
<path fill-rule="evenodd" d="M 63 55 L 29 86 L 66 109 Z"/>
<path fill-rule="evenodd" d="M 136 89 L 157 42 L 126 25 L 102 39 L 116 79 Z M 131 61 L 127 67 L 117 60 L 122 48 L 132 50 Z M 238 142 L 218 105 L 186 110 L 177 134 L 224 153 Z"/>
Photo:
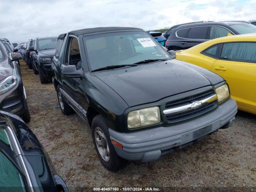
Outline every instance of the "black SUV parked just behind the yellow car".
<path fill-rule="evenodd" d="M 188 49 L 210 39 L 246 33 L 256 33 L 256 26 L 245 21 L 181 24 L 171 30 L 166 48 L 168 50 Z"/>

